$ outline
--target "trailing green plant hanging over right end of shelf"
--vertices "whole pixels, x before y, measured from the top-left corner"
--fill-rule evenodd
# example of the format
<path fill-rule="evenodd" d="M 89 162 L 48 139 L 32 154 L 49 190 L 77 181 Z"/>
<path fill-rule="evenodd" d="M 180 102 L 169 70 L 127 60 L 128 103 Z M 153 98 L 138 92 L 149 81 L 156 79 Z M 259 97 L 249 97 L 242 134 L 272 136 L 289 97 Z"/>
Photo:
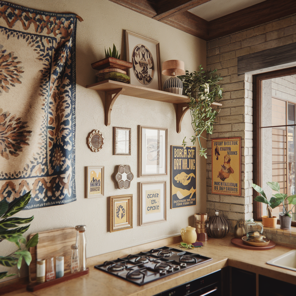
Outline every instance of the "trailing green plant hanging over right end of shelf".
<path fill-rule="evenodd" d="M 220 75 L 216 75 L 216 71 L 217 69 L 204 71 L 200 65 L 198 71 L 189 73 L 186 70 L 185 75 L 178 76 L 183 81 L 183 94 L 190 99 L 188 105 L 194 130 L 194 136 L 192 136 L 191 141 L 195 144 L 195 141 L 198 140 L 200 156 L 205 158 L 207 158 L 207 153 L 205 152 L 207 148 L 202 147 L 200 137 L 202 137 L 203 131 L 209 134 L 213 133 L 213 124 L 218 112 L 212 109 L 211 104 L 222 99 L 223 93 L 218 84 L 223 78 Z M 185 139 L 183 140 L 183 145 L 184 147 L 186 145 Z"/>

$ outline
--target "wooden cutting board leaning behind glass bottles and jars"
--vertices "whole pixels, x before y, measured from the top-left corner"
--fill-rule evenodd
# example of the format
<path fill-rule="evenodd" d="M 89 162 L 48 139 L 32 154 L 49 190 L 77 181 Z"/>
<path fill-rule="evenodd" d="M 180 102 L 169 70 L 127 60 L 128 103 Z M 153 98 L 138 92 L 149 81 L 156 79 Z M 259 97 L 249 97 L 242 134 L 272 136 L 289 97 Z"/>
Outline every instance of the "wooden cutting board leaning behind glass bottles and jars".
<path fill-rule="evenodd" d="M 30 248 L 32 261 L 29 266 L 30 282 L 36 281 L 36 261 L 55 256 L 64 256 L 65 273 L 71 270 L 71 245 L 76 243 L 76 229 L 74 227 L 61 228 L 38 232 L 39 242 Z M 29 239 L 35 233 L 30 234 Z"/>

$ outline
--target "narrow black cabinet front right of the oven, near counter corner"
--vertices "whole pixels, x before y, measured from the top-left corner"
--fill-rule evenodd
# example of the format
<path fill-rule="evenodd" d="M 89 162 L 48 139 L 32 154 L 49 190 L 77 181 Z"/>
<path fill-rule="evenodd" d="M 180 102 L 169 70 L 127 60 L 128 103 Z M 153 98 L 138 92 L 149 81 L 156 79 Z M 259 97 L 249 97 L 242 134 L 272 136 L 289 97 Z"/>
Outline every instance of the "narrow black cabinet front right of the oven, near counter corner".
<path fill-rule="evenodd" d="M 256 274 L 231 267 L 231 296 L 256 296 Z"/>

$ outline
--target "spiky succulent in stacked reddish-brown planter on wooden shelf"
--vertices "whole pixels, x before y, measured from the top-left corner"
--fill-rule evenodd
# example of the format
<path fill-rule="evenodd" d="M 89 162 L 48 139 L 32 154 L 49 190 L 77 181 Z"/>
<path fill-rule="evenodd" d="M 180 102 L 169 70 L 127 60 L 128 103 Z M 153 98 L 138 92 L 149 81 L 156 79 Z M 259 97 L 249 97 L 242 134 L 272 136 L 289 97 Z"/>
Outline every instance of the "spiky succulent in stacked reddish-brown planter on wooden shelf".
<path fill-rule="evenodd" d="M 127 74 L 132 66 L 132 63 L 120 59 L 120 54 L 118 55 L 118 50 L 114 44 L 112 51 L 109 47 L 109 50 L 107 49 L 106 52 L 105 48 L 104 59 L 91 64 L 93 69 L 99 70 L 99 73 L 96 74 L 96 82 L 115 80 L 130 83 L 130 78 Z"/>

